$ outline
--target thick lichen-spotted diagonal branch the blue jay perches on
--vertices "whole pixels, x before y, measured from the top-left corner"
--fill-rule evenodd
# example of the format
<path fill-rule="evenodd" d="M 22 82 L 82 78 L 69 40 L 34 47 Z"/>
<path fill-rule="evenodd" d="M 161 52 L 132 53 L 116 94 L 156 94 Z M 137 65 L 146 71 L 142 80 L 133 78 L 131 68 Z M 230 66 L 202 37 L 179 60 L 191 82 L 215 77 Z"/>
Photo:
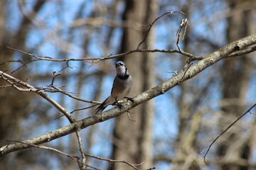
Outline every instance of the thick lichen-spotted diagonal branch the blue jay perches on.
<path fill-rule="evenodd" d="M 138 106 L 141 103 L 149 101 L 151 98 L 164 94 L 166 91 L 169 91 L 169 89 L 173 88 L 174 86 L 177 86 L 181 82 L 186 81 L 187 79 L 191 79 L 192 77 L 195 77 L 204 69 L 206 69 L 207 67 L 210 67 L 212 64 L 215 64 L 219 60 L 223 60 L 229 57 L 229 55 L 232 54 L 233 52 L 236 52 L 238 50 L 243 50 L 245 47 L 248 47 L 250 45 L 256 45 L 256 34 L 249 35 L 235 42 L 231 42 L 230 44 L 220 48 L 219 50 L 213 52 L 207 57 L 203 57 L 202 60 L 198 61 L 196 64 L 193 64 L 188 69 L 181 70 L 181 72 L 179 72 L 176 76 L 171 77 L 171 79 L 168 79 L 162 82 L 158 86 L 155 86 L 154 88 L 148 91 L 144 91 L 142 94 L 138 94 L 137 96 L 134 96 L 133 98 L 134 102 L 133 103 L 131 101 L 124 102 L 121 111 L 119 110 L 119 108 L 112 108 L 109 111 L 103 112 L 102 114 L 90 116 L 88 118 L 79 120 L 75 123 L 67 125 L 58 130 L 48 132 L 38 137 L 33 137 L 23 142 L 33 144 L 33 145 L 39 145 L 45 142 L 50 142 L 51 140 L 55 140 L 58 137 L 63 137 L 72 132 L 75 132 L 76 130 L 78 130 L 78 128 L 81 128 L 81 129 L 87 128 L 88 126 L 94 125 L 95 123 L 100 123 L 102 121 L 115 118 L 118 115 L 121 115 L 122 113 L 126 113 L 127 111 L 134 108 L 135 106 Z M 4 74 L 3 72 L 1 73 L 2 73 L 0 74 L 1 77 L 3 77 L 3 75 L 4 77 L 9 76 L 8 74 L 7 75 Z M 9 154 L 10 152 L 14 152 L 20 149 L 25 149 L 28 147 L 31 147 L 31 146 L 26 144 L 21 144 L 21 143 L 5 145 L 0 148 L 0 157 L 6 154 Z"/>

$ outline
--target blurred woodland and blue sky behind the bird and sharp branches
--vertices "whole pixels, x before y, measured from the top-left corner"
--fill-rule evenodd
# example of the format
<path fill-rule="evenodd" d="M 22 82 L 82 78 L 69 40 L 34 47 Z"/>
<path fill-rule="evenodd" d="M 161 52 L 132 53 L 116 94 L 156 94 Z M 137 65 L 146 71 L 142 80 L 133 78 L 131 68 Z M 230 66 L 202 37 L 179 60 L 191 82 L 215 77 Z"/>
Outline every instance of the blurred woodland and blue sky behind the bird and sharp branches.
<path fill-rule="evenodd" d="M 33 60 L 5 46 L 63 58 L 107 57 L 137 48 L 148 28 L 142 28 L 167 11 L 183 11 L 161 18 L 141 49 L 176 49 L 176 31 L 188 18 L 180 47 L 193 55 L 208 55 L 229 42 L 256 33 L 255 0 L 1 0 L 0 63 Z M 256 57 L 232 57 L 214 64 L 168 93 L 134 108 L 133 122 L 123 114 L 81 130 L 87 154 L 140 164 L 140 169 L 256 169 L 256 119 L 247 114 L 210 149 L 215 136 L 233 123 L 256 101 Z M 133 53 L 123 60 L 134 77 L 129 96 L 169 79 L 180 71 L 187 57 L 168 53 Z M 51 83 L 50 74 L 61 74 L 56 86 L 86 100 L 103 101 L 110 95 L 114 62 L 20 62 L 1 64 L 0 69 L 28 84 Z M 70 67 L 67 67 L 68 66 Z M 0 79 L 0 85 L 6 82 Z M 68 111 L 91 106 L 60 93 L 49 94 Z M 93 108 L 76 111 L 79 120 Z M 7 140 L 25 140 L 50 132 L 69 122 L 50 103 L 36 94 L 0 89 L 0 146 Z M 58 118 L 55 120 L 55 118 Z M 74 134 L 46 144 L 68 154 L 79 154 Z M 204 152 L 203 152 L 204 151 Z M 202 153 L 201 153 L 202 152 Z M 87 164 L 108 169 L 110 164 L 87 157 Z M 132 169 L 112 164 L 111 169 Z M 63 155 L 42 149 L 24 149 L 0 157 L 0 169 L 78 169 Z"/>

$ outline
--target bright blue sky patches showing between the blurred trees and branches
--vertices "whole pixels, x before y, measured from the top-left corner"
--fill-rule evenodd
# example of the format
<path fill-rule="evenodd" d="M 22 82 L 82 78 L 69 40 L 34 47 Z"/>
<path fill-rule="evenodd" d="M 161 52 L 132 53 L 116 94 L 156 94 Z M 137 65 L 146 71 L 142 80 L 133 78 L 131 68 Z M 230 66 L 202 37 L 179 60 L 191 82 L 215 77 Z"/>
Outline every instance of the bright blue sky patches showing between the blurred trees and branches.
<path fill-rule="evenodd" d="M 29 3 L 32 3 L 33 1 L 28 1 Z M 60 32 L 58 36 L 60 38 L 63 38 L 63 41 L 67 41 L 68 38 L 70 38 L 69 28 L 70 25 L 73 23 L 73 20 L 75 16 L 77 15 L 78 8 L 81 5 L 85 4 L 85 9 L 82 11 L 82 17 L 86 18 L 88 15 L 90 15 L 92 7 L 95 5 L 93 1 L 83 1 L 83 0 L 76 0 L 74 1 L 62 1 L 63 5 L 58 6 L 58 1 L 49 1 L 46 3 L 46 5 L 43 7 L 43 10 L 38 13 L 38 19 L 37 23 L 31 28 L 31 31 L 28 35 L 28 39 L 26 41 L 26 47 L 28 50 L 31 50 L 33 54 L 35 55 L 43 55 L 48 57 L 55 57 L 55 58 L 62 58 L 61 52 L 59 51 L 58 44 L 56 44 L 56 38 L 50 38 L 50 40 L 45 40 L 46 38 L 49 38 L 50 33 L 53 33 L 53 30 L 55 30 L 58 26 L 60 27 Z M 110 3 L 110 1 L 106 1 L 106 3 Z M 202 38 L 209 38 L 210 40 L 213 40 L 217 45 L 225 45 L 227 42 L 225 42 L 225 27 L 226 22 L 225 20 L 218 20 L 215 19 L 212 16 L 212 13 L 217 13 L 218 11 L 214 11 L 216 8 L 218 8 L 219 11 L 222 11 L 223 8 L 225 8 L 225 5 L 223 3 L 220 3 L 219 1 L 216 1 L 216 3 L 212 3 L 212 8 L 209 8 L 209 6 L 206 5 L 206 8 L 201 8 L 201 10 L 198 10 L 193 13 L 191 18 L 189 18 L 190 22 L 190 33 L 194 35 L 201 36 Z M 29 6 L 29 5 L 28 5 Z M 120 11 L 124 8 L 122 4 L 120 4 Z M 168 6 L 166 6 L 168 8 Z M 169 6 L 169 9 L 174 8 L 174 10 L 179 10 L 178 6 Z M 210 11 L 213 10 L 213 11 Z M 11 13 L 12 20 L 9 20 L 9 24 L 7 25 L 8 28 L 15 31 L 16 27 L 18 26 L 18 23 L 20 21 L 21 12 L 18 11 L 18 7 L 16 2 L 14 4 L 11 4 L 11 11 L 14 11 L 14 13 Z M 29 7 L 28 7 L 29 11 Z M 59 16 L 58 12 L 63 14 L 63 16 Z M 207 12 L 210 11 L 210 12 Z M 201 18 L 202 13 L 206 14 L 204 16 L 204 19 L 212 19 L 213 23 L 209 24 L 201 24 Z M 159 14 L 160 15 L 160 14 Z M 165 16 L 163 19 L 160 19 L 159 22 L 156 23 L 156 45 L 155 47 L 158 49 L 168 49 L 169 47 L 176 49 L 176 30 L 178 28 L 178 24 L 180 23 L 180 19 L 182 18 L 182 15 L 175 14 L 173 16 Z M 121 18 L 121 17 L 120 17 Z M 119 18 L 119 19 L 120 19 Z M 170 19 L 171 18 L 171 19 Z M 167 22 L 168 21 L 168 22 Z M 121 29 L 114 30 L 114 35 L 111 40 L 111 49 L 109 52 L 104 52 L 102 50 L 102 45 L 104 45 L 104 37 L 100 37 L 101 35 L 107 34 L 107 28 L 98 28 L 99 31 L 97 33 L 93 33 L 90 37 L 90 45 L 88 45 L 87 49 L 82 48 L 82 35 L 85 35 L 88 27 L 82 27 L 82 28 L 76 28 L 76 30 L 73 32 L 75 33 L 75 39 L 73 40 L 73 51 L 65 54 L 65 57 L 69 58 L 80 58 L 84 57 L 83 54 L 86 52 L 87 57 L 105 57 L 106 55 L 110 54 L 117 54 L 117 51 L 119 49 L 119 41 L 120 37 L 122 35 Z M 89 29 L 89 28 L 88 28 Z M 101 31 L 103 31 L 102 34 Z M 61 44 L 63 45 L 63 44 Z M 191 46 L 196 46 L 196 42 L 192 42 Z M 183 47 L 182 41 L 181 41 L 181 48 Z M 36 49 L 36 50 L 35 50 Z M 210 51 L 204 50 L 203 47 L 198 47 L 198 50 L 193 50 L 195 52 L 195 55 L 206 55 L 209 54 Z M 20 57 L 21 55 L 17 55 L 16 57 Z M 182 67 L 182 63 L 180 60 L 181 56 L 179 55 L 169 55 L 169 54 L 159 54 L 156 56 L 156 74 L 158 77 L 160 77 L 163 81 L 166 79 L 169 79 L 172 77 L 172 74 L 166 73 L 167 72 L 174 72 L 176 70 L 180 70 Z M 164 59 L 164 62 L 163 62 Z M 114 62 L 114 61 L 113 61 Z M 221 64 L 221 63 L 220 63 Z M 218 67 L 220 64 L 213 65 L 212 67 Z M 78 62 L 70 62 L 71 66 L 80 66 L 80 63 Z M 40 62 L 31 66 L 31 69 L 33 69 L 33 72 L 36 72 L 36 74 L 41 75 L 49 75 L 54 71 L 58 72 L 58 70 L 65 67 L 65 63 L 58 63 L 58 62 Z M 129 66 L 128 66 L 129 67 Z M 97 67 L 92 66 L 90 67 L 90 64 L 85 64 L 85 73 L 94 73 L 97 70 Z M 114 70 L 114 66 L 113 66 Z M 66 71 L 61 72 L 61 74 L 77 74 L 80 70 L 73 68 L 68 69 Z M 210 72 L 213 72 L 213 68 L 208 68 L 195 78 L 188 80 L 189 84 L 197 84 L 198 86 L 205 86 L 208 79 L 201 79 L 201 77 L 208 77 L 208 74 Z M 111 87 L 112 87 L 112 81 L 114 77 L 112 75 L 107 75 L 104 78 L 104 89 L 102 93 L 102 99 L 103 101 L 107 96 L 110 95 Z M 256 79 L 254 78 L 252 82 L 255 82 Z M 156 84 L 159 84 L 161 81 L 156 81 Z M 56 85 L 62 85 L 62 81 L 58 81 L 58 79 L 55 81 Z M 71 77 L 68 78 L 66 83 L 65 90 L 67 91 L 75 91 L 76 90 L 76 83 L 77 83 L 77 77 Z M 33 82 L 31 82 L 33 84 Z M 50 82 L 46 81 L 36 81 L 36 86 L 45 86 L 50 84 Z M 85 79 L 85 84 L 83 86 L 82 92 L 82 98 L 85 98 L 87 100 L 91 100 L 93 98 L 93 94 L 91 91 L 95 90 L 95 85 L 97 84 L 97 80 L 94 78 L 88 78 Z M 218 105 L 212 105 L 211 103 L 218 103 L 218 100 L 221 98 L 220 91 L 219 91 L 219 82 L 215 82 L 215 86 L 213 86 L 212 89 L 212 95 L 207 96 L 206 100 L 208 100 L 207 106 L 211 108 L 213 111 L 218 111 Z M 248 100 L 255 100 L 255 91 L 256 86 L 255 84 L 250 85 L 250 93 L 248 94 Z M 176 98 L 179 97 L 181 94 L 181 88 L 179 86 L 174 87 L 174 89 L 171 89 L 166 94 L 158 96 L 154 98 L 156 107 L 156 115 L 154 119 L 154 139 L 155 140 L 162 140 L 168 141 L 174 140 L 177 135 L 178 130 L 178 106 L 176 103 Z M 57 94 L 49 94 L 52 96 L 56 101 L 61 101 L 64 98 L 65 108 L 68 109 L 68 111 L 73 111 L 75 107 L 75 102 L 73 99 Z M 188 95 L 189 96 L 189 95 Z M 193 96 L 191 96 L 193 99 Z M 85 103 L 81 103 L 82 106 L 88 106 Z M 50 109 L 48 116 L 56 115 L 55 109 Z M 85 111 L 82 111 L 80 113 L 80 118 L 85 118 Z M 31 115 L 27 120 L 24 120 L 24 125 L 26 123 L 33 123 L 35 120 L 35 116 Z M 58 122 L 60 121 L 60 122 Z M 95 145 L 92 147 L 92 154 L 99 155 L 102 157 L 110 157 L 111 154 L 111 142 L 106 135 L 111 135 L 112 128 L 113 128 L 114 120 L 107 120 L 104 123 L 100 123 L 98 126 L 98 133 L 95 134 Z M 35 129 L 33 132 L 28 135 L 28 137 L 35 137 L 38 134 L 43 134 L 45 132 L 50 132 L 51 130 L 55 130 L 58 128 L 59 125 L 68 125 L 68 120 L 65 120 L 65 118 L 60 118 L 60 120 L 55 120 L 51 122 L 49 125 L 41 125 L 38 127 L 38 129 Z M 82 130 L 82 133 L 87 134 L 89 128 L 86 130 Z M 104 133 L 104 135 L 102 135 Z M 69 143 L 69 137 L 61 137 L 61 141 L 64 141 L 65 145 L 70 145 Z M 55 140 L 51 142 L 53 145 L 56 145 L 58 143 L 58 140 Z M 173 149 L 170 145 L 167 145 L 165 142 L 163 142 L 163 145 L 154 145 L 154 154 L 158 154 L 159 152 L 164 152 L 164 148 L 169 147 L 169 154 L 171 154 L 171 150 Z M 103 149 L 102 149 L 103 148 Z M 53 163 L 54 165 L 54 163 Z M 166 164 L 161 164 L 163 169 L 167 169 L 166 167 L 169 166 Z"/>

